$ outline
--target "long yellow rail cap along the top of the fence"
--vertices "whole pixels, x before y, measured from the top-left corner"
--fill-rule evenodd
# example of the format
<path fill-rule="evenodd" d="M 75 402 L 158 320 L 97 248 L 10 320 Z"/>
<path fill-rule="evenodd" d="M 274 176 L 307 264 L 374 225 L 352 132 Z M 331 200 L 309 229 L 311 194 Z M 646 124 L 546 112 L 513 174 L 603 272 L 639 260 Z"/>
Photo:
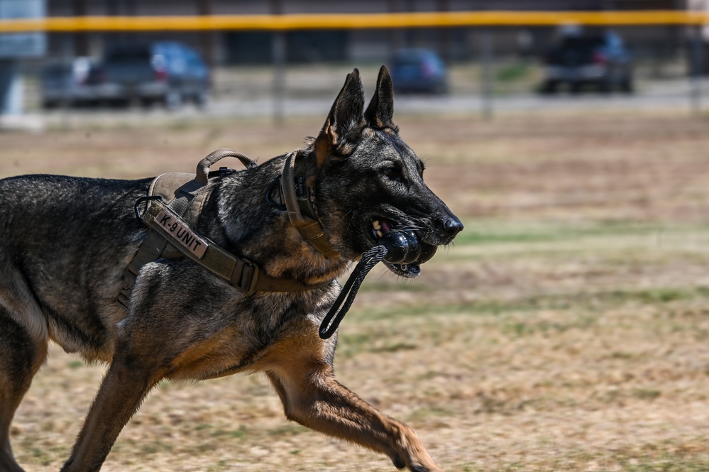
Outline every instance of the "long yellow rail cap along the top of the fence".
<path fill-rule="evenodd" d="M 0 21 L 0 33 L 27 31 L 199 31 L 424 28 L 434 26 L 701 25 L 696 11 L 454 11 L 416 13 L 303 13 L 291 15 L 79 16 Z"/>

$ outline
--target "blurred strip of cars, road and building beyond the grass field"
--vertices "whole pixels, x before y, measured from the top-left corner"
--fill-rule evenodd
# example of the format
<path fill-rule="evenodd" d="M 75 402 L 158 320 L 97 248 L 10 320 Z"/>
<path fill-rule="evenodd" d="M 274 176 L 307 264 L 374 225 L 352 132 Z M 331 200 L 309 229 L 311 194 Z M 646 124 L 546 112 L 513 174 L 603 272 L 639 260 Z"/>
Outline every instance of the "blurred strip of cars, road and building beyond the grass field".
<path fill-rule="evenodd" d="M 353 65 L 367 70 L 386 64 L 405 111 L 491 116 L 498 107 L 699 110 L 709 71 L 709 26 L 678 19 L 676 13 L 708 8 L 704 0 L 364 0 L 332 1 L 326 7 L 307 0 L 0 0 L 0 18 L 88 17 L 46 32 L 0 35 L 5 77 L 0 96 L 5 115 L 30 115 L 24 121 L 35 127 L 67 113 L 95 120 L 99 111 L 125 114 L 160 107 L 282 119 L 319 112 Z M 458 21 L 436 27 L 433 20 L 427 26 L 424 20 L 415 28 L 400 27 L 405 23 L 396 15 L 372 27 L 366 19 L 343 26 L 324 18 L 319 26 L 306 22 L 282 30 L 263 18 L 222 27 L 193 22 L 182 29 L 165 21 L 165 16 L 302 13 L 455 17 L 493 10 L 559 14 L 528 24 L 513 15 L 468 26 Z M 626 16 L 615 23 L 584 24 L 568 14 L 573 11 Z M 642 17 L 648 11 L 659 15 L 648 21 Z M 148 22 L 101 29 L 95 16 Z M 4 122 L 22 121 L 6 117 Z"/>

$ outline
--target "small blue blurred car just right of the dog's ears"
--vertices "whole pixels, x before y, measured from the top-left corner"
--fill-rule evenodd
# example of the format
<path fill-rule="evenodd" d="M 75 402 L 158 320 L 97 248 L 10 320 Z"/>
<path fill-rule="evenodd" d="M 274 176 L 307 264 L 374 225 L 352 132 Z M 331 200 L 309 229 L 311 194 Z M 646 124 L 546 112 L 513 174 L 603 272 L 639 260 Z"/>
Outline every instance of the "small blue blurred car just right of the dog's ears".
<path fill-rule="evenodd" d="M 395 91 L 432 94 L 448 92 L 446 65 L 431 50 L 397 50 L 392 55 L 389 71 Z"/>

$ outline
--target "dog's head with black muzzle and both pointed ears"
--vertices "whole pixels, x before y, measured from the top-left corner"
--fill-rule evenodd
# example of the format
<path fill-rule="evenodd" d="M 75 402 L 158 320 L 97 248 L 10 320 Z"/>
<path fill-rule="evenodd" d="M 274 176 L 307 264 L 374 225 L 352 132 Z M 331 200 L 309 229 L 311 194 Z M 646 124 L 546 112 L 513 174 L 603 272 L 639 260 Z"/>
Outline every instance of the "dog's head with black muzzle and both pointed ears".
<path fill-rule="evenodd" d="M 461 221 L 424 183 L 424 163 L 392 121 L 394 92 L 382 67 L 373 99 L 358 70 L 347 76 L 317 138 L 311 142 L 309 180 L 315 211 L 331 245 L 358 259 L 388 231 L 413 231 L 422 253 L 451 243 Z M 397 275 L 416 277 L 420 262 L 387 263 Z"/>

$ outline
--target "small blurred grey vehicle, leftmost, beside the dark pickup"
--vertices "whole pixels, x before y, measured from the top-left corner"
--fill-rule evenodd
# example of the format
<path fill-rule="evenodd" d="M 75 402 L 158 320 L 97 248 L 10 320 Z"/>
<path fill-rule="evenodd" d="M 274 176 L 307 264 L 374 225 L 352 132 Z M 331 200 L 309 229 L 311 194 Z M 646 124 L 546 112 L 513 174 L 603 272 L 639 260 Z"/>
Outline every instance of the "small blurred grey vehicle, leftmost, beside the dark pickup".
<path fill-rule="evenodd" d="M 89 84 L 92 70 L 88 57 L 46 63 L 40 71 L 42 107 L 80 106 L 94 101 L 94 89 Z"/>

